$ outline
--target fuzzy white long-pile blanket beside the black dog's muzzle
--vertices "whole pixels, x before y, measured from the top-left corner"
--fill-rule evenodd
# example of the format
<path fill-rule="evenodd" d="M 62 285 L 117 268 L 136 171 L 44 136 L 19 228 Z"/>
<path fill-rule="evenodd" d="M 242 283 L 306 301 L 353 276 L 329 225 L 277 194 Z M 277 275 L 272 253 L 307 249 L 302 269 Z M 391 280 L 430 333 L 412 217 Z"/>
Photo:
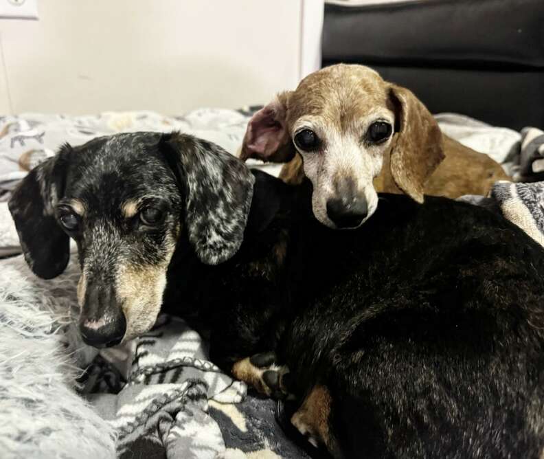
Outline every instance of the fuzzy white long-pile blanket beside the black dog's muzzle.
<path fill-rule="evenodd" d="M 69 321 L 78 275 L 72 262 L 44 282 L 22 256 L 0 262 L 3 459 L 115 457 L 113 429 L 74 390 L 78 368 L 95 354 Z"/>

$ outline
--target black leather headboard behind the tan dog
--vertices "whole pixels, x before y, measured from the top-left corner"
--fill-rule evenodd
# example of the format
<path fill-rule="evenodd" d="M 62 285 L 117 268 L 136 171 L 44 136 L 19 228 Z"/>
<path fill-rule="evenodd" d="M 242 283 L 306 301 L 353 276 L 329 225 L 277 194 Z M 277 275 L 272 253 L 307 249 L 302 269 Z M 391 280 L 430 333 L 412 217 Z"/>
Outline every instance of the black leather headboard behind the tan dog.
<path fill-rule="evenodd" d="M 433 113 L 544 127 L 544 0 L 327 4 L 323 64 L 361 63 Z"/>

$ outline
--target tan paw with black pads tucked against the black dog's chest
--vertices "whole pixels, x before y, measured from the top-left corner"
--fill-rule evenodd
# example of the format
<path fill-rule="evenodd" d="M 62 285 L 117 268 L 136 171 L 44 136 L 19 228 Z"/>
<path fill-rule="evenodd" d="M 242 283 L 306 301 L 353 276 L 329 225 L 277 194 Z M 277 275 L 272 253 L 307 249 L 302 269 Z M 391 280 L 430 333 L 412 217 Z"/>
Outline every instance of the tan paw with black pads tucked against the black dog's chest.
<path fill-rule="evenodd" d="M 237 361 L 232 366 L 232 374 L 274 399 L 285 399 L 289 394 L 290 373 L 286 366 L 277 364 L 275 352 L 263 352 Z"/>

